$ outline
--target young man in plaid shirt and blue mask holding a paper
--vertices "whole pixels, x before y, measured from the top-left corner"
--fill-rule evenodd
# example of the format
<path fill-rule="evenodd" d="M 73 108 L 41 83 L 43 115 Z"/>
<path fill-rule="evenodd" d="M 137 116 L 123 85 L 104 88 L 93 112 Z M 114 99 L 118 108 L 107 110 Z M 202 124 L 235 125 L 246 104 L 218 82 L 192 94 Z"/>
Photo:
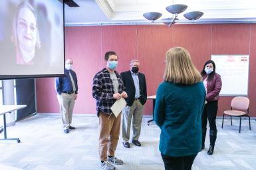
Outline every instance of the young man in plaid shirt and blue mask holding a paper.
<path fill-rule="evenodd" d="M 99 118 L 99 154 L 100 167 L 114 170 L 112 164 L 122 165 L 123 161 L 114 156 L 120 134 L 120 114 L 118 117 L 111 114 L 110 107 L 116 100 L 127 97 L 124 83 L 115 70 L 118 64 L 116 52 L 106 52 L 106 68 L 102 69 L 93 79 L 92 96 L 96 99 L 96 110 Z"/>

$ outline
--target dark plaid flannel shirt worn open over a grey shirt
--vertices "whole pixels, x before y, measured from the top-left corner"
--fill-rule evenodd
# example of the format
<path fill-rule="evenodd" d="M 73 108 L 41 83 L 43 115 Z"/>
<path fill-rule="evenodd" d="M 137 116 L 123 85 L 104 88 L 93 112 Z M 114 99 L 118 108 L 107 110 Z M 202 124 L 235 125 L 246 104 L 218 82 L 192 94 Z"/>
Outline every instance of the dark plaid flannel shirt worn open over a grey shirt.
<path fill-rule="evenodd" d="M 122 77 L 115 70 L 116 77 L 118 79 L 118 93 L 124 91 L 124 83 L 122 82 Z M 105 114 L 111 114 L 112 110 L 110 107 L 116 102 L 116 99 L 113 98 L 114 95 L 114 86 L 112 79 L 110 78 L 110 73 L 106 68 L 102 69 L 93 78 L 92 84 L 92 97 L 96 99 L 96 110 L 97 115 L 99 112 Z"/>

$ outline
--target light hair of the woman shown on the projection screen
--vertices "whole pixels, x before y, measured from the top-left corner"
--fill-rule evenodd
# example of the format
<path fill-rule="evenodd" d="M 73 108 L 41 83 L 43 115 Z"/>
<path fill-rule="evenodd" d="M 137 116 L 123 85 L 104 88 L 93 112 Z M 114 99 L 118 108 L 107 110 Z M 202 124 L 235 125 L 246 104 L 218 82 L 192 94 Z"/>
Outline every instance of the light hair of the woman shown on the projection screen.
<path fill-rule="evenodd" d="M 11 37 L 11 39 L 15 43 L 15 45 L 17 46 L 17 30 L 16 30 L 17 29 L 17 21 L 18 21 L 18 17 L 19 17 L 19 12 L 23 8 L 29 9 L 33 13 L 33 15 L 35 16 L 35 21 L 36 21 L 36 26 L 37 26 L 36 48 L 39 49 L 39 48 L 41 48 L 41 40 L 40 40 L 38 24 L 37 24 L 37 13 L 35 12 L 35 9 L 32 7 L 32 5 L 30 5 L 30 3 L 27 2 L 27 1 L 23 1 L 23 2 L 19 3 L 19 5 L 17 6 L 17 10 L 16 10 L 16 13 L 15 13 L 14 19 L 13 19 L 13 36 Z"/>

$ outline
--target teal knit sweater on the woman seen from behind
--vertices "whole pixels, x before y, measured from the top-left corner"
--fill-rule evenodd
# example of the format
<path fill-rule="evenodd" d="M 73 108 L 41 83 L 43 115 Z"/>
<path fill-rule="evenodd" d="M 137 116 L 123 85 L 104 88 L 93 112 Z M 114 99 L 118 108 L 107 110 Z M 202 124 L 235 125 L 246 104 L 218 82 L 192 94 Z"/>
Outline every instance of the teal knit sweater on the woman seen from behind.
<path fill-rule="evenodd" d="M 162 154 L 181 157 L 201 149 L 201 113 L 205 101 L 203 83 L 179 85 L 163 82 L 156 93 L 154 121 L 161 128 Z"/>

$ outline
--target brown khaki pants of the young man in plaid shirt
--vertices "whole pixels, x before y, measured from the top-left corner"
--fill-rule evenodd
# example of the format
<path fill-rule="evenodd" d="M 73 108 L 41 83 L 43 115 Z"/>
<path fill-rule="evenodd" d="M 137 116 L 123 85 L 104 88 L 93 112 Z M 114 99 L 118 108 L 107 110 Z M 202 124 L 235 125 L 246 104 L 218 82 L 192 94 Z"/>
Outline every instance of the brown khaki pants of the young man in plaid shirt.
<path fill-rule="evenodd" d="M 99 114 L 100 137 L 98 139 L 100 160 L 106 161 L 107 155 L 114 156 L 119 140 L 121 114 L 116 118 L 114 114 Z"/>

